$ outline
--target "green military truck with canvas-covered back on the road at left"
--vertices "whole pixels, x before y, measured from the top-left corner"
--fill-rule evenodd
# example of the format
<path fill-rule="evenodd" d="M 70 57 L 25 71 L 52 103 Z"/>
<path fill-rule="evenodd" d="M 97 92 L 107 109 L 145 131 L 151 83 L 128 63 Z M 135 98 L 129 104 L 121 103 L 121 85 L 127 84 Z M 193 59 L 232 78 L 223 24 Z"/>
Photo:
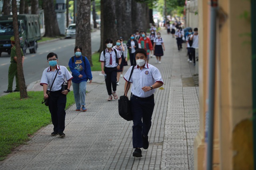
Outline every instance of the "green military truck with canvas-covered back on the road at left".
<path fill-rule="evenodd" d="M 36 53 L 38 44 L 41 39 L 39 16 L 35 14 L 18 15 L 20 47 L 24 55 L 29 49 L 30 53 Z M 10 38 L 14 36 L 12 15 L 0 16 L 0 56 L 2 52 L 11 53 Z"/>

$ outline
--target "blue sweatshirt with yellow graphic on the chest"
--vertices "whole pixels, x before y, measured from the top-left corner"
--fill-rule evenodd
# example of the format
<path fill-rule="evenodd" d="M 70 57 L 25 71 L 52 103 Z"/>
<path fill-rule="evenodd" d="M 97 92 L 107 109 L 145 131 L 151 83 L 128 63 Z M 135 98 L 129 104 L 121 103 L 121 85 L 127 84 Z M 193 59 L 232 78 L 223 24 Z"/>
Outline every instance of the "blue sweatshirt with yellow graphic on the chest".
<path fill-rule="evenodd" d="M 82 81 L 92 80 L 92 71 L 91 65 L 87 57 L 85 57 L 85 62 L 83 61 L 82 55 L 80 57 L 74 56 L 74 63 L 72 62 L 72 57 L 68 62 L 70 71 L 72 72 L 72 82 L 80 83 Z M 82 75 L 82 78 L 79 78 L 79 75 Z"/>

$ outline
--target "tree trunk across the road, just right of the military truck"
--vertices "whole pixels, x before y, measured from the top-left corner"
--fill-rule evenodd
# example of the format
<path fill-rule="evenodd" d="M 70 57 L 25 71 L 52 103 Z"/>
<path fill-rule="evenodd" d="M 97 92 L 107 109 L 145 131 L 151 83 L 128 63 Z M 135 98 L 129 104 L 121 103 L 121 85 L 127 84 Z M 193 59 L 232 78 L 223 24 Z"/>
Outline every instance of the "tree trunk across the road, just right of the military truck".
<path fill-rule="evenodd" d="M 45 37 L 60 36 L 53 0 L 44 0 Z"/>

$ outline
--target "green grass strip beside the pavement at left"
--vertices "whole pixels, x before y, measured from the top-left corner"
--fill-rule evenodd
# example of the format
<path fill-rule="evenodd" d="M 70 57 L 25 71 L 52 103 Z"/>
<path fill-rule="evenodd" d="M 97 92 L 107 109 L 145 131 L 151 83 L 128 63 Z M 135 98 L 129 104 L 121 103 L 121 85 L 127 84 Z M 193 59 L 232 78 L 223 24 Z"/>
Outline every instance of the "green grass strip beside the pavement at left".
<path fill-rule="evenodd" d="M 38 129 L 51 123 L 48 107 L 41 104 L 42 91 L 29 91 L 28 99 L 20 100 L 20 93 L 0 97 L 0 161 L 11 150 L 30 140 Z M 68 93 L 66 109 L 74 104 L 73 93 Z"/>

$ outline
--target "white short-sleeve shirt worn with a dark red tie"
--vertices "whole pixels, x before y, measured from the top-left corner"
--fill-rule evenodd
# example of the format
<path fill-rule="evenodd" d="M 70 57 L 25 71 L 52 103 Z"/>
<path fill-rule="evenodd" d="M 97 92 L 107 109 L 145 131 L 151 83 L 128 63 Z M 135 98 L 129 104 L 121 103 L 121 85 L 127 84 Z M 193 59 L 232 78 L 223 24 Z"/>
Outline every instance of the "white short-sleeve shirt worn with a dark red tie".
<path fill-rule="evenodd" d="M 116 67 L 118 65 L 118 63 L 116 63 L 116 55 L 117 58 L 121 58 L 121 55 L 118 53 L 118 51 L 114 51 L 114 49 L 112 48 L 111 52 L 108 51 L 108 49 L 104 49 L 106 50 L 105 53 L 105 57 L 104 57 L 104 53 L 103 51 L 100 54 L 100 61 L 101 62 L 105 62 L 105 67 Z M 110 65 L 110 56 L 112 57 L 112 65 Z"/>

